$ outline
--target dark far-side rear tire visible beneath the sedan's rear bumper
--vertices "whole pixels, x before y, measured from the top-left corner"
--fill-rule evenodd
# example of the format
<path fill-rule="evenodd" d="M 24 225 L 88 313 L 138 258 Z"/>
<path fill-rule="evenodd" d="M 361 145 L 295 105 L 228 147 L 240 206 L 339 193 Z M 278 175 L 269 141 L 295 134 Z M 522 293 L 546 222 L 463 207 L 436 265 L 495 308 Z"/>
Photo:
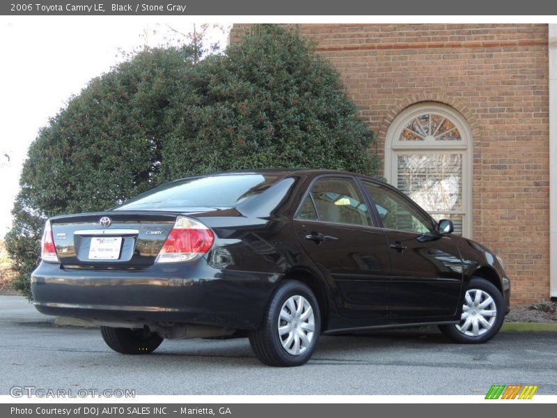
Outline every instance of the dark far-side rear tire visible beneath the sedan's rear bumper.
<path fill-rule="evenodd" d="M 100 327 L 107 346 L 122 354 L 149 354 L 162 343 L 162 337 L 147 329 Z"/>

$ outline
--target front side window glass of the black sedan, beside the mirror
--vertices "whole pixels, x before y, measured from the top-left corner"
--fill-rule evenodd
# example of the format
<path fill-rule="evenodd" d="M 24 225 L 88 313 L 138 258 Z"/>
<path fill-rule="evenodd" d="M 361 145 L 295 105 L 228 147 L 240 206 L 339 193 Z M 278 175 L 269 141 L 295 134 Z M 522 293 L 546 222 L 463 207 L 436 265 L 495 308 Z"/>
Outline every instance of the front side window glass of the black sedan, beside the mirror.
<path fill-rule="evenodd" d="M 433 232 L 431 220 L 397 192 L 367 181 L 363 182 L 363 187 L 375 203 L 384 228 L 415 233 Z"/>

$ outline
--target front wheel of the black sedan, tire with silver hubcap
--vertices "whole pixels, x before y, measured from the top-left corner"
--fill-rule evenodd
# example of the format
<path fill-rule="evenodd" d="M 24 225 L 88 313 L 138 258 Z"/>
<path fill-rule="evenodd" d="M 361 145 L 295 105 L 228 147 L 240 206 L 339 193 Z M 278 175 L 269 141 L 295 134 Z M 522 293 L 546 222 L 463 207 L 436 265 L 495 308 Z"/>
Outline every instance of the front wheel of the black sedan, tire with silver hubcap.
<path fill-rule="evenodd" d="M 499 332 L 504 319 L 505 301 L 499 289 L 485 279 L 473 277 L 466 289 L 460 323 L 439 325 L 439 330 L 457 343 L 485 343 Z"/>

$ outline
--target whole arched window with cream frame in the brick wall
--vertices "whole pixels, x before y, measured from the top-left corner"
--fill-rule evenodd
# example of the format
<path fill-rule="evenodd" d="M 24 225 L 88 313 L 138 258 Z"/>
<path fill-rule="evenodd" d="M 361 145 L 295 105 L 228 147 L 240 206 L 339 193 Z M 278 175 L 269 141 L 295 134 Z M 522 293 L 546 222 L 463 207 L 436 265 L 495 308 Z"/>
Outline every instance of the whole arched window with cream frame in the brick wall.
<path fill-rule="evenodd" d="M 472 135 L 453 108 L 420 103 L 391 123 L 385 177 L 435 219 L 451 219 L 455 233 L 471 238 Z"/>

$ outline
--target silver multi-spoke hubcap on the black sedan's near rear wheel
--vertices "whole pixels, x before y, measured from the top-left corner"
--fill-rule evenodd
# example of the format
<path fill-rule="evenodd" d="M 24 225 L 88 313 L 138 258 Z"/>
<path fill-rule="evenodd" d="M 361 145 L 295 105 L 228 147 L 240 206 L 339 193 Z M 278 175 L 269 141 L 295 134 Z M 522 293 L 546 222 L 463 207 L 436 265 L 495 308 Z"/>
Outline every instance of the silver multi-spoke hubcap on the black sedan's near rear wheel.
<path fill-rule="evenodd" d="M 315 316 L 304 296 L 289 297 L 278 317 L 278 338 L 288 354 L 301 355 L 311 345 L 315 331 Z"/>

